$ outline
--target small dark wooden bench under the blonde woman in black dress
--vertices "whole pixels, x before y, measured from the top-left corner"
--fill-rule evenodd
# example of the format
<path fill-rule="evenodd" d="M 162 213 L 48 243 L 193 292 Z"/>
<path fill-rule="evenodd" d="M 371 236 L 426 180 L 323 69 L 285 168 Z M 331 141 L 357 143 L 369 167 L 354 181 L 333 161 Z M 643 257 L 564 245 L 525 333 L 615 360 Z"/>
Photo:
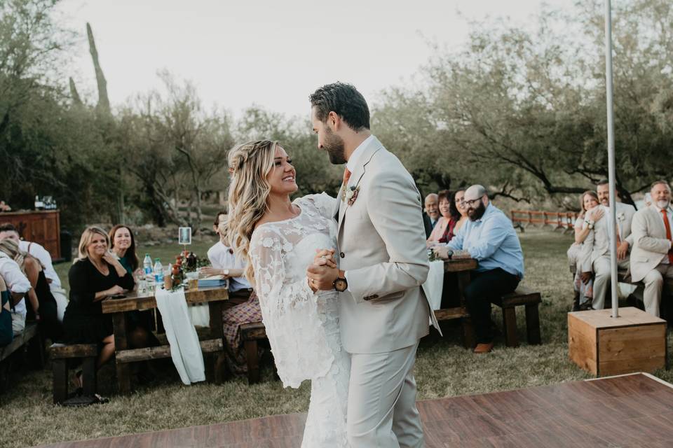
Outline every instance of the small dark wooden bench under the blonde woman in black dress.
<path fill-rule="evenodd" d="M 82 360 L 82 386 L 84 395 L 96 393 L 96 344 L 52 344 L 49 347 L 51 370 L 53 372 L 54 404 L 58 405 L 68 398 L 68 360 Z"/>

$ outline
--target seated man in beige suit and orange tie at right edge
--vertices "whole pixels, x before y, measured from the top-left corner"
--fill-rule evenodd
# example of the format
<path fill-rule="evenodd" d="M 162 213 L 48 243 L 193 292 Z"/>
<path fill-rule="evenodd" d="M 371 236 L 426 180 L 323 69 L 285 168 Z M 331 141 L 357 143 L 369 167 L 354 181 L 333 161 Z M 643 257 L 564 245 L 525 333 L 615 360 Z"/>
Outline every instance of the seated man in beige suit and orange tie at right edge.
<path fill-rule="evenodd" d="M 633 217 L 631 278 L 645 283 L 645 311 L 659 316 L 664 277 L 673 278 L 671 188 L 665 181 L 656 181 L 650 195 L 652 204 Z"/>

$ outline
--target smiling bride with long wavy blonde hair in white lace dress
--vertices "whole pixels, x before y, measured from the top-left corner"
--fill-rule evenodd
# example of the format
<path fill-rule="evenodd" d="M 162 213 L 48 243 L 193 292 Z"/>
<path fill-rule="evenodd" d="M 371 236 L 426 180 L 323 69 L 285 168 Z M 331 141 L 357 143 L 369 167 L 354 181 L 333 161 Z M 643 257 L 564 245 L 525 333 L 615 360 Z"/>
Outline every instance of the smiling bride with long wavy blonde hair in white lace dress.
<path fill-rule="evenodd" d="M 301 447 L 347 447 L 350 360 L 341 349 L 338 293 L 315 290 L 306 268 L 318 249 L 336 248 L 334 198 L 294 202 L 292 161 L 276 141 L 250 141 L 229 151 L 227 235 L 254 285 L 283 386 L 311 380 Z M 325 264 L 322 260 L 322 264 Z"/>

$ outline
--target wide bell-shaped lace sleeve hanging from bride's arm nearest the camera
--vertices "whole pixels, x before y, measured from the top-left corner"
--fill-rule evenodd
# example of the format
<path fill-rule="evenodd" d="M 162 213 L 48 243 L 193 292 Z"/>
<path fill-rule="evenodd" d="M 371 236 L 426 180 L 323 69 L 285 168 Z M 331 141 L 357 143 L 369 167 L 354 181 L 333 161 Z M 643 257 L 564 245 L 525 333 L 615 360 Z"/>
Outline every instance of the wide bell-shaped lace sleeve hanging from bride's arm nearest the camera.
<path fill-rule="evenodd" d="M 334 356 L 325 349 L 320 294 L 308 287 L 306 275 L 292 280 L 287 249 L 292 244 L 269 226 L 255 230 L 250 241 L 259 306 L 278 376 L 283 386 L 297 388 L 304 379 L 327 374 Z"/>

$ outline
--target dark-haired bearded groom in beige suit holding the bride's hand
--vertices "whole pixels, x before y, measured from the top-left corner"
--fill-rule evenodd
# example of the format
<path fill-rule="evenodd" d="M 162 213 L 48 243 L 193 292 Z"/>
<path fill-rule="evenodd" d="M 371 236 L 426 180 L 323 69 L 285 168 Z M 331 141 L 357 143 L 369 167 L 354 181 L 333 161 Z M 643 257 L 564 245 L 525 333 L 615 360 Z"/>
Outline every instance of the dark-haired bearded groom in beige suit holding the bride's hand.
<path fill-rule="evenodd" d="M 313 265 L 307 274 L 314 288 L 340 293 L 341 341 L 351 356 L 348 442 L 423 447 L 412 372 L 430 314 L 420 287 L 429 269 L 421 196 L 369 132 L 367 102 L 355 87 L 325 85 L 310 99 L 318 148 L 333 164 L 346 163 L 334 209 L 339 267 Z"/>

